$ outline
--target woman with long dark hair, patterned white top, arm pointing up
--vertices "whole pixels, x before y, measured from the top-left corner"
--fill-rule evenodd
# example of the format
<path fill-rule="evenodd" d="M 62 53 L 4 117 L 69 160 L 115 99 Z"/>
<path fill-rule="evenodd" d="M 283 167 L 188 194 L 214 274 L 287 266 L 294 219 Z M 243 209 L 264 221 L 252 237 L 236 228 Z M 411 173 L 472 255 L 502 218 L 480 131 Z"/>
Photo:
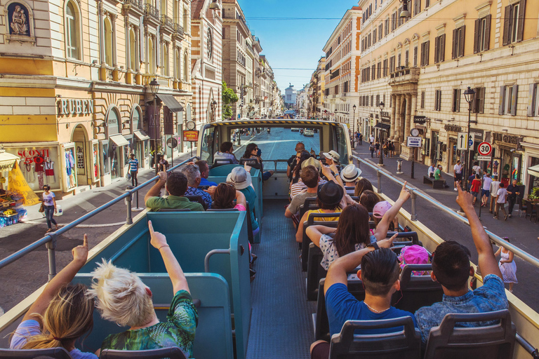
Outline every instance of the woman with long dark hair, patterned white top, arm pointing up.
<path fill-rule="evenodd" d="M 347 205 L 339 217 L 337 229 L 328 226 L 309 226 L 305 233 L 312 243 L 324 253 L 320 265 L 328 270 L 335 259 L 356 250 L 361 250 L 376 241 L 382 241 L 387 236 L 387 230 L 392 219 L 397 216 L 402 205 L 410 198 L 406 191 L 406 182 L 395 205 L 387 210 L 378 224 L 375 234 L 368 231 L 368 212 L 363 205 L 353 203 Z M 333 238 L 329 234 L 335 233 Z"/>

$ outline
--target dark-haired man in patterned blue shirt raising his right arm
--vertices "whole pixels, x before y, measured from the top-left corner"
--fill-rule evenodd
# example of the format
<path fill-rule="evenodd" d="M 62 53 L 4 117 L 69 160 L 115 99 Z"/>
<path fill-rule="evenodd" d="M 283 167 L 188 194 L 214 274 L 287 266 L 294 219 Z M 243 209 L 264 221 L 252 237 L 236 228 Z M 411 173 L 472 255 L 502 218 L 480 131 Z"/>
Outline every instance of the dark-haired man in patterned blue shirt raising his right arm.
<path fill-rule="evenodd" d="M 470 250 L 455 241 L 438 245 L 432 252 L 430 276 L 432 280 L 441 284 L 444 299 L 415 312 L 423 344 L 427 343 L 430 329 L 440 325 L 441 320 L 448 313 L 485 313 L 508 308 L 502 273 L 494 257 L 491 241 L 472 206 L 473 196 L 462 191 L 460 186 L 457 189 L 457 204 L 463 209 L 470 222 L 483 285 L 473 291 L 468 289 L 468 279 L 474 276 L 474 268 L 470 266 Z M 493 324 L 493 322 L 467 322 L 462 325 L 481 327 Z"/>

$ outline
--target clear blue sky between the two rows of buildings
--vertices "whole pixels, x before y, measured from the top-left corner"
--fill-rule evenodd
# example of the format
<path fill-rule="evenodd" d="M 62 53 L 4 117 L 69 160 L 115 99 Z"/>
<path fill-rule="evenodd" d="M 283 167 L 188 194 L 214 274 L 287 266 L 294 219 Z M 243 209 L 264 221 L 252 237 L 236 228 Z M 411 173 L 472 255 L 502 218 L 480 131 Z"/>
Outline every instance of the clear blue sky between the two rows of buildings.
<path fill-rule="evenodd" d="M 322 48 L 342 15 L 357 6 L 353 0 L 238 1 L 251 32 L 260 39 L 262 54 L 270 62 L 283 94 L 288 83 L 296 90 L 309 83 L 319 58 L 324 55 Z"/>

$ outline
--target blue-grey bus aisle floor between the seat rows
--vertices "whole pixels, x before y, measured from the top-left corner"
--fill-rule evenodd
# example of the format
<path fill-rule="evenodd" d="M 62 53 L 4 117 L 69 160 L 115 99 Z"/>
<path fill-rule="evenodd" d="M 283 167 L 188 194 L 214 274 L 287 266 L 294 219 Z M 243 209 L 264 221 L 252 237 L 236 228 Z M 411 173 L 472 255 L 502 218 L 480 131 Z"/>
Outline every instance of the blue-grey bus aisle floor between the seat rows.
<path fill-rule="evenodd" d="M 286 200 L 264 201 L 262 238 L 253 245 L 258 259 L 251 285 L 247 359 L 310 358 L 311 316 L 317 303 L 307 302 L 294 227 L 284 217 L 287 204 Z"/>

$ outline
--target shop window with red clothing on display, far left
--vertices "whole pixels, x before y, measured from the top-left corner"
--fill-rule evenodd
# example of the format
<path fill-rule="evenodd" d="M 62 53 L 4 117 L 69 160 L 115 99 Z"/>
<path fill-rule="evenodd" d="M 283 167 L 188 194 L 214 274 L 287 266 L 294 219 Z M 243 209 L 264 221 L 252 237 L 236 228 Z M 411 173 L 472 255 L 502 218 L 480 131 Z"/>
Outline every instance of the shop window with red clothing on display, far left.
<path fill-rule="evenodd" d="M 20 170 L 32 190 L 41 191 L 44 184 L 60 189 L 58 147 L 6 147 L 6 152 L 20 157 Z"/>

